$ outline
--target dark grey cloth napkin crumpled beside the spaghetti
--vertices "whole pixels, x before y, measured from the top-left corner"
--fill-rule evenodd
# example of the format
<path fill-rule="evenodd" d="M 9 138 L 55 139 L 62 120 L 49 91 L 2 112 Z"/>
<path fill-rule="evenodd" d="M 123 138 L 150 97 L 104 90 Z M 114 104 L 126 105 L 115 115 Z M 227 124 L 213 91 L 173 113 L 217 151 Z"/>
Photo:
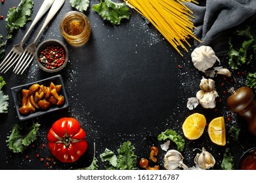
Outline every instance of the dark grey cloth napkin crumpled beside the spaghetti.
<path fill-rule="evenodd" d="M 256 13 L 256 0 L 204 0 L 186 3 L 194 13 L 192 21 L 197 27 L 194 35 L 202 42 L 196 46 L 211 46 L 216 54 L 228 51 L 230 29 L 240 25 Z"/>

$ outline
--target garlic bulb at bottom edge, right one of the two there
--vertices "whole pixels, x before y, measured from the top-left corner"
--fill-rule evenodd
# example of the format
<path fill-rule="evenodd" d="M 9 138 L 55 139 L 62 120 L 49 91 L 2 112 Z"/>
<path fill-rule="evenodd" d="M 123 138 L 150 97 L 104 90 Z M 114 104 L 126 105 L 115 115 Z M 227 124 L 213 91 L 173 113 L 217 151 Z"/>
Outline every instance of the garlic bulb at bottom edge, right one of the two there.
<path fill-rule="evenodd" d="M 196 163 L 196 167 L 200 167 L 200 169 L 210 169 L 215 165 L 214 157 L 205 148 L 202 148 L 202 152 L 196 155 L 194 162 Z"/>

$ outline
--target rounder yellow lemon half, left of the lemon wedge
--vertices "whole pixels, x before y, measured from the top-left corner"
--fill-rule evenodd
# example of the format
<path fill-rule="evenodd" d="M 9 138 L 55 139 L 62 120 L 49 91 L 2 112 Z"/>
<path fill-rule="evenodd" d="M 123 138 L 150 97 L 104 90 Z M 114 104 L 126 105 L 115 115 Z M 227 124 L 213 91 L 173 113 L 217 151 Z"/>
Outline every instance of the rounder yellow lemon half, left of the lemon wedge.
<path fill-rule="evenodd" d="M 184 136 L 189 140 L 196 140 L 203 135 L 206 119 L 203 114 L 194 113 L 188 116 L 182 125 Z"/>

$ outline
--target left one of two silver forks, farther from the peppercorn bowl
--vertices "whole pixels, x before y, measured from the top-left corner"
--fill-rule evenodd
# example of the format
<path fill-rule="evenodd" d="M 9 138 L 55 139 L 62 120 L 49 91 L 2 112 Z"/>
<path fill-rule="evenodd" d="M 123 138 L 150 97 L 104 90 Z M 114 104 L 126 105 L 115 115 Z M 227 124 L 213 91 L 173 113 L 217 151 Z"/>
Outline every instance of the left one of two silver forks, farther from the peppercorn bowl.
<path fill-rule="evenodd" d="M 35 19 L 33 20 L 32 24 L 30 25 L 30 28 L 24 35 L 22 41 L 20 41 L 19 44 L 16 44 L 12 47 L 12 50 L 9 52 L 9 54 L 6 56 L 6 58 L 1 62 L 0 64 L 0 71 L 1 73 L 6 73 L 16 61 L 18 61 L 18 58 L 22 55 L 24 49 L 23 49 L 23 43 L 28 37 L 30 31 L 32 31 L 33 27 L 39 22 L 39 20 L 42 18 L 42 16 L 49 10 L 51 5 L 53 5 L 54 0 L 45 0 L 43 1 L 43 4 L 41 5 L 39 11 L 37 12 L 37 15 L 35 16 Z"/>

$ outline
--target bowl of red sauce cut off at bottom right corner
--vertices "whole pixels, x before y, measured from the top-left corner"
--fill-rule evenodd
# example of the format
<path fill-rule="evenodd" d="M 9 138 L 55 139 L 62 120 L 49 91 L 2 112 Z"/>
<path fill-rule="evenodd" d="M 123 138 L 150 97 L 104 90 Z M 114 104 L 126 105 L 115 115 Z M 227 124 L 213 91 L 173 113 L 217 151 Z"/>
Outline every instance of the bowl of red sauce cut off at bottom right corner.
<path fill-rule="evenodd" d="M 243 167 L 249 169 L 256 168 L 256 147 L 247 150 L 240 158 L 238 163 L 238 169 L 242 170 Z"/>

